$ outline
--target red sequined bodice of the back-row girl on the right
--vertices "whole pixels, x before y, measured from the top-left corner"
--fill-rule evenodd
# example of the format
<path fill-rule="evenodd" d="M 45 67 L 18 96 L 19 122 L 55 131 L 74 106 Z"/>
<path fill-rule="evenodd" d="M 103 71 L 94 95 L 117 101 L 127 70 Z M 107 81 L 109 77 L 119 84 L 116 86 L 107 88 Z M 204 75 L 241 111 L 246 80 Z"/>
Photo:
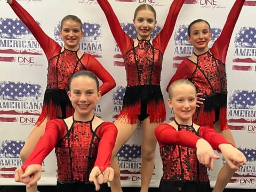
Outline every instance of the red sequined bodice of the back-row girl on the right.
<path fill-rule="evenodd" d="M 225 65 L 210 52 L 198 55 L 197 68 L 190 81 L 204 95 L 227 92 Z"/>

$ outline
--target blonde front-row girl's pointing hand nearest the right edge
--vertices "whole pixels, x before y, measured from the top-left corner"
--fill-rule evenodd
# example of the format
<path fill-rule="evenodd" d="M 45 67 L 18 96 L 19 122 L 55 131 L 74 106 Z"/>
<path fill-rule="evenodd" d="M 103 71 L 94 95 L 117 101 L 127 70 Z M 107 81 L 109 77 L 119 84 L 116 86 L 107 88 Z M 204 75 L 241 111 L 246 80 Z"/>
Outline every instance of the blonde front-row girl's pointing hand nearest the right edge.
<path fill-rule="evenodd" d="M 239 170 L 239 167 L 246 163 L 244 154 L 232 145 L 222 143 L 218 147 L 231 169 Z"/>

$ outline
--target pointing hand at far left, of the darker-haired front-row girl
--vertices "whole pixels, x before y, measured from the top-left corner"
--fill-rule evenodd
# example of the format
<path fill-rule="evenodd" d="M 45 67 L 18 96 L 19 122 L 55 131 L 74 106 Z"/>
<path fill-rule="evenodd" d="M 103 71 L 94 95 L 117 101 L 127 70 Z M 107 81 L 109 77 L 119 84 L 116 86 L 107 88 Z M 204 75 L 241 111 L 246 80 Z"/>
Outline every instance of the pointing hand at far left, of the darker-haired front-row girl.
<path fill-rule="evenodd" d="M 33 186 L 41 178 L 42 166 L 29 165 L 23 173 L 21 167 L 15 170 L 14 179 L 16 182 L 26 183 L 27 188 Z"/>

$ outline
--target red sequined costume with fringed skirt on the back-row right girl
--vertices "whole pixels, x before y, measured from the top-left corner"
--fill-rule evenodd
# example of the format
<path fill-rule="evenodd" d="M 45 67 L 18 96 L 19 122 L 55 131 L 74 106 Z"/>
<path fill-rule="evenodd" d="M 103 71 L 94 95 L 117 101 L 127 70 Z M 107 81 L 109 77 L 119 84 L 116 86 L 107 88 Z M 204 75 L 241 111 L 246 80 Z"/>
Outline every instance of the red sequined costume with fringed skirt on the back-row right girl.
<path fill-rule="evenodd" d="M 189 79 L 203 93 L 205 101 L 196 109 L 193 121 L 201 126 L 213 127 L 219 120 L 221 130 L 229 129 L 227 124 L 227 79 L 225 61 L 233 29 L 241 12 L 244 0 L 237 0 L 232 7 L 221 35 L 209 51 L 197 55 L 197 63 L 182 61 L 167 86 L 178 79 Z"/>

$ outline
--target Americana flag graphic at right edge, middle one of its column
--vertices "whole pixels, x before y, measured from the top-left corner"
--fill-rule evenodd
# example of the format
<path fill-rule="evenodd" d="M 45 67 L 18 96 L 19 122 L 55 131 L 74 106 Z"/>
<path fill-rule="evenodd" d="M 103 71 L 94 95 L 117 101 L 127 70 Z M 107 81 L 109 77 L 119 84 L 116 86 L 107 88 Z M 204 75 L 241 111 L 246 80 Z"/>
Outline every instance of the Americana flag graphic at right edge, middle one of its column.
<path fill-rule="evenodd" d="M 256 91 L 235 90 L 228 100 L 228 107 L 231 130 L 245 130 L 248 124 L 256 123 L 253 115 L 256 111 Z"/>

